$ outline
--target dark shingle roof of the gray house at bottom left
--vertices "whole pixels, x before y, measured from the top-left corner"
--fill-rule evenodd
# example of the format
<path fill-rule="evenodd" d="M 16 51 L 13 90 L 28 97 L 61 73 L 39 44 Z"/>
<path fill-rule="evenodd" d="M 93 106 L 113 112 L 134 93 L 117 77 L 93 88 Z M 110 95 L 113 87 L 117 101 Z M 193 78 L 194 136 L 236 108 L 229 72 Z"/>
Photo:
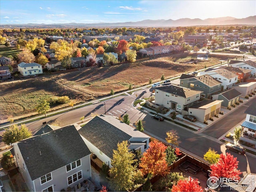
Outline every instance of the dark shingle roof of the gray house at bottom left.
<path fill-rule="evenodd" d="M 32 180 L 91 154 L 73 125 L 22 140 L 18 147 Z"/>

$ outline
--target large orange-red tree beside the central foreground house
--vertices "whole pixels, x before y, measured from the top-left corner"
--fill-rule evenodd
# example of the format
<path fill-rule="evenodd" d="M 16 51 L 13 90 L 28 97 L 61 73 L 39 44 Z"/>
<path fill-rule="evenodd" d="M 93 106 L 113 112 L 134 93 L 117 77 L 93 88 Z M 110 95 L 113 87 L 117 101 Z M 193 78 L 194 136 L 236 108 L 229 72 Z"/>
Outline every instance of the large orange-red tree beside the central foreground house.
<path fill-rule="evenodd" d="M 166 150 L 162 142 L 154 140 L 149 143 L 149 148 L 144 152 L 142 158 L 140 159 L 141 172 L 144 175 L 151 173 L 152 175 L 162 175 L 168 174 L 168 164 L 166 162 Z"/>

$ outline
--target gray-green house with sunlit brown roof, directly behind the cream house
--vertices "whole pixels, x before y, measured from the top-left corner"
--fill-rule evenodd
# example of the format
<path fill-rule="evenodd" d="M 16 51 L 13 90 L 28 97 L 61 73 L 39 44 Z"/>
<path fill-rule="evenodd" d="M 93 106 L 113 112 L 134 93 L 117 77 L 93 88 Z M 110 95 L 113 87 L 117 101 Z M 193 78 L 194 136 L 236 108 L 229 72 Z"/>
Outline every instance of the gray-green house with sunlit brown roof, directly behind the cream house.
<path fill-rule="evenodd" d="M 212 78 L 208 74 L 197 77 L 182 74 L 180 76 L 180 86 L 190 88 L 192 90 L 202 91 L 201 98 L 208 99 L 221 90 L 221 82 L 215 78 Z"/>

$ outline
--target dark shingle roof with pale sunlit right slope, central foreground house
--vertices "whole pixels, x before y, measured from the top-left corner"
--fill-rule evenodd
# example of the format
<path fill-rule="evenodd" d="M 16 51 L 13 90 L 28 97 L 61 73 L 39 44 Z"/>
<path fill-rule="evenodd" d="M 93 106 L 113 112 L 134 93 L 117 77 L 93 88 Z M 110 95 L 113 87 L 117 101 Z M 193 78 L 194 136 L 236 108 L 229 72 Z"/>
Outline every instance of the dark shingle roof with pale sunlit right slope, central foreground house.
<path fill-rule="evenodd" d="M 117 150 L 118 142 L 129 141 L 135 137 L 149 138 L 146 134 L 109 115 L 94 117 L 78 132 L 109 158 L 113 158 L 113 150 Z"/>

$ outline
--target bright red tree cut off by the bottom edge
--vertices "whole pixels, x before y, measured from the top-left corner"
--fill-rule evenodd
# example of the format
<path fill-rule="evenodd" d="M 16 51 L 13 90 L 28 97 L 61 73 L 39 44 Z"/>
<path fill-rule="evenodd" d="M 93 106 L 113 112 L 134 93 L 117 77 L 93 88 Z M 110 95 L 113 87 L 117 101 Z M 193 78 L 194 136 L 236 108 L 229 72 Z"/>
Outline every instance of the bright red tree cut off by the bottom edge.
<path fill-rule="evenodd" d="M 184 180 L 179 180 L 177 185 L 172 186 L 172 192 L 180 191 L 203 191 L 202 187 L 198 184 L 198 179 L 188 178 Z"/>

